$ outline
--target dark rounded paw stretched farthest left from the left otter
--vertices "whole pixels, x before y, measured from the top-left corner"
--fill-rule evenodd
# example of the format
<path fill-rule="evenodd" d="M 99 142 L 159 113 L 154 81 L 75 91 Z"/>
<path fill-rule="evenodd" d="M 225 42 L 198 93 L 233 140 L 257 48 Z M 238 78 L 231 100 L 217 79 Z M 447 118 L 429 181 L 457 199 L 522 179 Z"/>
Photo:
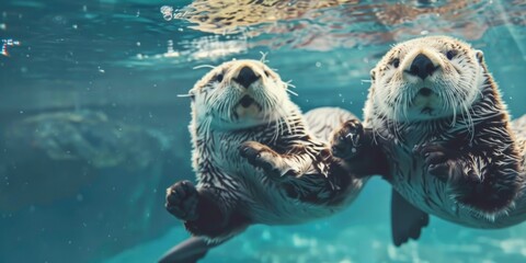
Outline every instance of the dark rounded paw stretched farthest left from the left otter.
<path fill-rule="evenodd" d="M 197 220 L 199 193 L 190 181 L 180 181 L 167 190 L 167 210 L 185 221 Z"/>

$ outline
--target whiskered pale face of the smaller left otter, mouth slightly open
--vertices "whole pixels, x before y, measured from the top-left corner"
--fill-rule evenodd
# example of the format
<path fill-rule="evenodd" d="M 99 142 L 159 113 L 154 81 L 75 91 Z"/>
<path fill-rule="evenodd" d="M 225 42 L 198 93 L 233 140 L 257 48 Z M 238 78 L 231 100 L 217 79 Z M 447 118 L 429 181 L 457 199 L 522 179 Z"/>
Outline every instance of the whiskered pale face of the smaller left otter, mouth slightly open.
<path fill-rule="evenodd" d="M 216 128 L 247 128 L 285 115 L 287 83 L 258 60 L 224 62 L 190 91 L 194 116 Z"/>

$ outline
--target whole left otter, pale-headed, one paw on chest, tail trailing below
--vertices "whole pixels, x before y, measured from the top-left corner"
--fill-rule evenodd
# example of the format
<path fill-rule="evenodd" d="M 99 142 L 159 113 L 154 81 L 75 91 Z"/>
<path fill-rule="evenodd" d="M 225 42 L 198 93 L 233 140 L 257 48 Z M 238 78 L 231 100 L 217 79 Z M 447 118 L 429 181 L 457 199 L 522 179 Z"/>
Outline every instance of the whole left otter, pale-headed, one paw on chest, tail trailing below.
<path fill-rule="evenodd" d="M 167 190 L 165 206 L 194 237 L 161 262 L 195 262 L 253 224 L 333 215 L 361 192 L 367 176 L 329 148 L 332 132 L 356 117 L 333 107 L 304 116 L 287 88 L 265 64 L 233 60 L 190 91 L 197 185 L 176 182 Z"/>

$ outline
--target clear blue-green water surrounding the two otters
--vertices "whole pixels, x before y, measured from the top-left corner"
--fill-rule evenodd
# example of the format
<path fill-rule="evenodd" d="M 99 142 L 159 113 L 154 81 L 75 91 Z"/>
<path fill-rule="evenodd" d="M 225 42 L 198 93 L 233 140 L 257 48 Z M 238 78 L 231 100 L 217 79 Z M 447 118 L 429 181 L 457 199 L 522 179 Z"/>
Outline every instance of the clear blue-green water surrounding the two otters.
<path fill-rule="evenodd" d="M 513 116 L 526 113 L 522 0 L 256 2 L 0 3 L 0 262 L 155 262 L 187 237 L 163 198 L 194 176 L 190 102 L 178 94 L 206 72 L 195 66 L 264 53 L 304 111 L 361 114 L 390 45 L 448 34 L 484 50 Z M 214 20 L 230 11 L 243 20 Z M 524 224 L 433 217 L 418 242 L 392 247 L 389 192 L 375 179 L 344 213 L 251 227 L 204 262 L 526 261 Z"/>

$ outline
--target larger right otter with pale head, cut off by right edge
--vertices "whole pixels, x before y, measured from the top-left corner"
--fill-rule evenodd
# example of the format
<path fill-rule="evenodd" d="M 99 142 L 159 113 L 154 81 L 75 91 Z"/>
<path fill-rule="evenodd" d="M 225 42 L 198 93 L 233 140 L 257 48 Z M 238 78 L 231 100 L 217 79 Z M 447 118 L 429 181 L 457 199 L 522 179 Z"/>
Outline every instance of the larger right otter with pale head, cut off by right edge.
<path fill-rule="evenodd" d="M 430 214 L 473 228 L 526 219 L 525 117 L 512 125 L 481 50 L 447 36 L 415 38 L 370 75 L 357 125 L 387 160 L 396 245 L 418 239 Z"/>

